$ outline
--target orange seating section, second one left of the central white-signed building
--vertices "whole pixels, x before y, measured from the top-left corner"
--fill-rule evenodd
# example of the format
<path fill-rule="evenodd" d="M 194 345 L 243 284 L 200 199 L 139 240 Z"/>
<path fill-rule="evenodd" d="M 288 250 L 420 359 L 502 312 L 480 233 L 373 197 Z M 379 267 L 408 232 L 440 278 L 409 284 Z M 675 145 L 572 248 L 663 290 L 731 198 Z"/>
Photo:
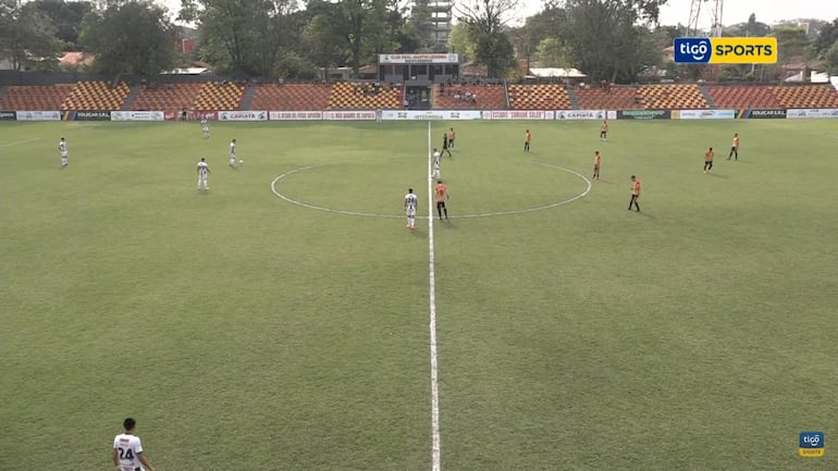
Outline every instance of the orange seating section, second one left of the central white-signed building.
<path fill-rule="evenodd" d="M 329 107 L 332 87 L 323 84 L 261 84 L 256 88 L 254 110 L 316 111 Z"/>

